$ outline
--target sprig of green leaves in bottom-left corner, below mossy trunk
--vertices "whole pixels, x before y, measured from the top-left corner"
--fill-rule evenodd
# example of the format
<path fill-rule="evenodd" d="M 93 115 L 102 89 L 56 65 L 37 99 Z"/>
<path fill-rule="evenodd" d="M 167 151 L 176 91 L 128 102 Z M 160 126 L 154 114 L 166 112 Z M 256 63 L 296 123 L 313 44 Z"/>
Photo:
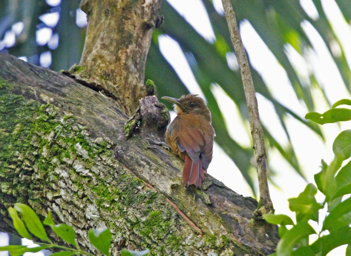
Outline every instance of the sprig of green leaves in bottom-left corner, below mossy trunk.
<path fill-rule="evenodd" d="M 37 214 L 34 210 L 23 203 L 15 203 L 14 207 L 8 208 L 8 213 L 12 218 L 13 226 L 17 230 L 21 237 L 33 240 L 32 235 L 39 238 L 40 241 L 44 242 L 34 242 L 38 244 L 38 247 L 28 248 L 26 245 L 7 245 L 0 247 L 0 251 L 8 251 L 10 256 L 20 256 L 25 252 L 38 252 L 44 249 L 60 249 L 58 252 L 54 252 L 53 256 L 71 256 L 76 254 L 84 254 L 88 256 L 94 256 L 89 252 L 80 249 L 79 245 L 75 241 L 75 232 L 73 228 L 65 223 L 55 225 L 51 211 L 48 211 L 46 218 L 43 222 L 39 220 Z M 20 213 L 21 218 L 18 213 Z M 61 245 L 54 244 L 47 236 L 44 229 L 44 225 L 51 227 L 56 235 L 58 235 L 62 240 L 67 242 L 72 247 L 65 247 Z M 32 235 L 31 235 L 31 234 Z M 112 233 L 109 228 L 104 230 L 89 229 L 88 239 L 94 247 L 96 247 L 102 254 L 110 256 L 110 247 L 112 240 Z M 144 251 L 132 251 L 128 249 L 123 249 L 120 251 L 121 256 L 143 256 L 147 254 L 149 250 Z"/>

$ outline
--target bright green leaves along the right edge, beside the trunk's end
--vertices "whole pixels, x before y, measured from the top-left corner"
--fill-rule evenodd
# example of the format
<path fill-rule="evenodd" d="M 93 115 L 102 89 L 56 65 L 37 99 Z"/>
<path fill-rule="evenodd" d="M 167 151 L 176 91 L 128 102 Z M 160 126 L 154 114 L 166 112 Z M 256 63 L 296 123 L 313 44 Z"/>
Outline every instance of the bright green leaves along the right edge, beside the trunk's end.
<path fill-rule="evenodd" d="M 351 101 L 340 100 L 324 114 L 308 113 L 306 119 L 320 124 L 350 120 L 350 109 L 336 108 L 339 105 L 351 105 Z M 324 256 L 344 244 L 348 244 L 346 255 L 351 255 L 351 197 L 342 200 L 351 194 L 351 161 L 342 167 L 343 161 L 351 157 L 351 130 L 344 130 L 336 137 L 333 153 L 335 157 L 330 165 L 322 160 L 322 170 L 314 175 L 317 187 L 309 183 L 298 197 L 289 199 L 289 208 L 296 214 L 296 224 L 284 214 L 264 215 L 266 221 L 279 225 L 280 241 L 272 256 Z M 317 190 L 325 196 L 322 203 L 315 198 Z M 325 218 L 322 209 L 327 210 Z M 314 230 L 311 221 L 322 223 L 322 227 Z M 292 228 L 287 229 L 290 225 Z M 312 234 L 317 234 L 318 239 L 309 244 Z"/>

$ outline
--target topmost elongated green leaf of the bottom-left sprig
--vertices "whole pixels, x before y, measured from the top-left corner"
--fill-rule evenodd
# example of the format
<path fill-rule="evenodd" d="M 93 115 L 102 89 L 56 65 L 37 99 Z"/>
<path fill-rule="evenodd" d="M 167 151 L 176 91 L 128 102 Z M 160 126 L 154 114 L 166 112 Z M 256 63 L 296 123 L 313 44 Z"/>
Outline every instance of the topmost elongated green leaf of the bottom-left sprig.
<path fill-rule="evenodd" d="M 16 211 L 20 212 L 23 221 L 31 233 L 41 240 L 51 243 L 50 239 L 47 237 L 45 229 L 41 224 L 39 217 L 35 214 L 33 209 L 23 203 L 15 203 L 14 208 Z"/>

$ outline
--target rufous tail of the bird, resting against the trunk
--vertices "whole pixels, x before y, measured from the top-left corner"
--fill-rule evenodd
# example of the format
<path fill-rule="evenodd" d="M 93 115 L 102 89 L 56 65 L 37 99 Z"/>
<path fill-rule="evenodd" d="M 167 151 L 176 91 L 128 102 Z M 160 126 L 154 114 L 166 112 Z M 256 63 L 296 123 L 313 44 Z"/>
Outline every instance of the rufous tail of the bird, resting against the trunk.
<path fill-rule="evenodd" d="M 194 184 L 201 188 L 202 182 L 205 180 L 205 173 L 207 171 L 202 167 L 201 158 L 198 163 L 195 163 L 186 155 L 183 169 L 183 183 L 188 186 Z"/>

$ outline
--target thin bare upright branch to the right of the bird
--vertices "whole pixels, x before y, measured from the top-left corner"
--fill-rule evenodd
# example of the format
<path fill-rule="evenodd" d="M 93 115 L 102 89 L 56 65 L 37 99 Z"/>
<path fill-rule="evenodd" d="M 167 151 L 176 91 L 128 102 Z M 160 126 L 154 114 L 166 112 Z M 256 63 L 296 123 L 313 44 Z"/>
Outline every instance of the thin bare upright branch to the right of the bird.
<path fill-rule="evenodd" d="M 260 203 L 258 209 L 255 211 L 255 215 L 262 216 L 265 213 L 274 212 L 267 182 L 266 146 L 263 137 L 263 129 L 258 114 L 257 99 L 255 94 L 256 92 L 253 86 L 250 66 L 249 62 L 247 61 L 243 42 L 241 41 L 235 13 L 230 0 L 222 0 L 222 4 L 224 7 L 225 18 L 229 27 L 230 38 L 232 40 L 235 54 L 238 59 L 241 78 L 244 84 L 247 110 L 249 112 L 251 135 L 256 154 L 258 183 L 260 192 Z"/>

